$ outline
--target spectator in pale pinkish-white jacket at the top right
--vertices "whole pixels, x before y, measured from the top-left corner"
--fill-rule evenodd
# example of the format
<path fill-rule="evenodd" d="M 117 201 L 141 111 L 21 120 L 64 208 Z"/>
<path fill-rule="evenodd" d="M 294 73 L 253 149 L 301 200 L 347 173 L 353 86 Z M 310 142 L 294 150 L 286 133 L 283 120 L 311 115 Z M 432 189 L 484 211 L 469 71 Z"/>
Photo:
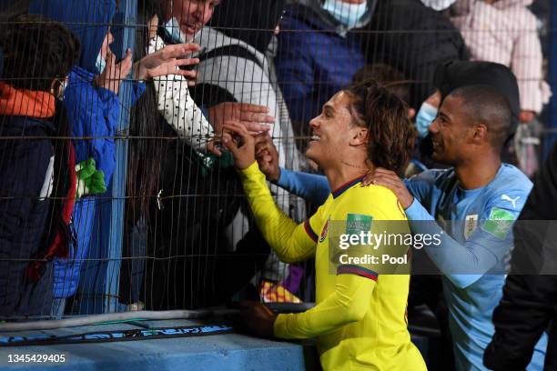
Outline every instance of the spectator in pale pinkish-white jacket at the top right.
<path fill-rule="evenodd" d="M 543 80 L 542 45 L 528 5 L 532 0 L 458 0 L 451 8 L 471 59 L 507 65 L 516 75 L 522 123 L 531 122 L 552 95 Z"/>

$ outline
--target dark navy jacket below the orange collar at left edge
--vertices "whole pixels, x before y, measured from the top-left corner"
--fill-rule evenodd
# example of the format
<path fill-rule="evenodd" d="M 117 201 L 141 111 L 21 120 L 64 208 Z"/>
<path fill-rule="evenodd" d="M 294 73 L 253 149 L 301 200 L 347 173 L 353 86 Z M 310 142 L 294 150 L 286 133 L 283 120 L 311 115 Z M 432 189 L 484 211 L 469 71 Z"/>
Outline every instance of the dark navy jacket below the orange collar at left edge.
<path fill-rule="evenodd" d="M 46 247 L 53 133 L 49 120 L 0 116 L 0 317 L 50 313 L 51 266 L 37 283 L 26 269 Z"/>

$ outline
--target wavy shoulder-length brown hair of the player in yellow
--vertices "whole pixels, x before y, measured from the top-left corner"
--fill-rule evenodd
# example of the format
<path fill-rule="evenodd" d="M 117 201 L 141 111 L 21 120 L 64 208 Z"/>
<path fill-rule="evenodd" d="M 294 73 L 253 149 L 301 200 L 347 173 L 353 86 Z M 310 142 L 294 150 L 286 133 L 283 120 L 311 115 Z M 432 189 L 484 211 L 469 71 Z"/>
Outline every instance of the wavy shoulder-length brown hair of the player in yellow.
<path fill-rule="evenodd" d="M 369 130 L 370 161 L 402 175 L 415 141 L 408 106 L 374 80 L 350 85 L 344 91 L 353 97 L 350 111 L 355 122 Z"/>

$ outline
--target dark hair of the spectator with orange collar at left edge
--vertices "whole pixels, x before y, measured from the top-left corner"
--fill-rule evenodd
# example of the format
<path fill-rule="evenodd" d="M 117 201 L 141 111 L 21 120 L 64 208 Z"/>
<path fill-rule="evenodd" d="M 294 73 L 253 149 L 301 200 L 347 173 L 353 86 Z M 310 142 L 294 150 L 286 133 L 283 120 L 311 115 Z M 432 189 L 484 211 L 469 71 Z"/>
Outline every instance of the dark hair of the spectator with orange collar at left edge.
<path fill-rule="evenodd" d="M 40 15 L 18 15 L 2 26 L 2 79 L 16 88 L 48 91 L 65 78 L 79 58 L 76 35 L 64 25 Z"/>

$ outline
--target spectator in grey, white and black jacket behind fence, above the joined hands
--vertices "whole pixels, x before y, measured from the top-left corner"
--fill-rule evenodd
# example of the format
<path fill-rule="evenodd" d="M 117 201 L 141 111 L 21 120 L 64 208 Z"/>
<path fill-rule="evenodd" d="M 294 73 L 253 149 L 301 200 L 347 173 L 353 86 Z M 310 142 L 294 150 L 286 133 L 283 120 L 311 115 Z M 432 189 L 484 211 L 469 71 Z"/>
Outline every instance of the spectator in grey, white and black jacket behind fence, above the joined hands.
<path fill-rule="evenodd" d="M 275 119 L 269 134 L 279 148 L 281 165 L 300 169 L 289 111 L 272 64 L 284 10 L 282 0 L 223 1 L 211 19 L 211 27 L 203 29 L 198 38 L 204 54 L 200 55 L 195 90 L 199 103 L 208 107 L 226 101 L 268 106 L 268 114 Z M 305 207 L 299 197 L 290 196 L 277 186 L 272 186 L 271 191 L 285 213 L 299 221 L 305 217 Z M 232 250 L 246 236 L 249 225 L 246 211 L 238 210 L 228 226 Z M 265 241 L 260 238 L 259 243 Z M 261 278 L 278 283 L 288 271 L 288 266 L 273 254 Z"/>

